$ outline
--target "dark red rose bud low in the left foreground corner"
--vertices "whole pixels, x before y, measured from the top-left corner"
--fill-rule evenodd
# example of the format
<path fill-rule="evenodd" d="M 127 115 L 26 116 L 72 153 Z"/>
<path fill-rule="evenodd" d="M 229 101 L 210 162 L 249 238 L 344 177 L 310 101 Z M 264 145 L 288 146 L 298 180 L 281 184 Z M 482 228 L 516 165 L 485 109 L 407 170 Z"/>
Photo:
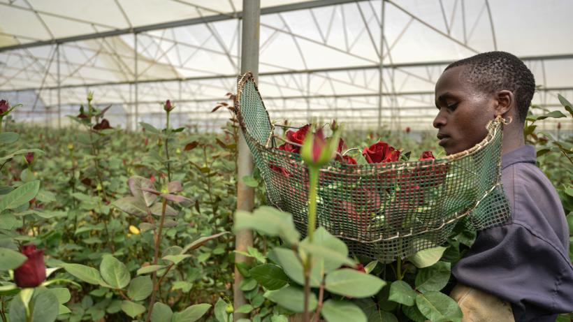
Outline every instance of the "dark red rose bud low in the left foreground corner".
<path fill-rule="evenodd" d="M 45 280 L 44 251 L 33 244 L 22 247 L 27 260 L 14 270 L 14 281 L 20 288 L 36 287 Z"/>

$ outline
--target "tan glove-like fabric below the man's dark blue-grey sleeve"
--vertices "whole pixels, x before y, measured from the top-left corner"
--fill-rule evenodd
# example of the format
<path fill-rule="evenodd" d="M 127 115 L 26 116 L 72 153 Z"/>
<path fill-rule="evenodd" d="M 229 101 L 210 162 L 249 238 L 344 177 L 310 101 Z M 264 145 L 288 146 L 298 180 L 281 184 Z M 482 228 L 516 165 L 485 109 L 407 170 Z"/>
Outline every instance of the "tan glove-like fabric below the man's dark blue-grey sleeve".
<path fill-rule="evenodd" d="M 462 322 L 515 322 L 512 305 L 495 295 L 457 284 L 450 296 L 462 309 Z"/>

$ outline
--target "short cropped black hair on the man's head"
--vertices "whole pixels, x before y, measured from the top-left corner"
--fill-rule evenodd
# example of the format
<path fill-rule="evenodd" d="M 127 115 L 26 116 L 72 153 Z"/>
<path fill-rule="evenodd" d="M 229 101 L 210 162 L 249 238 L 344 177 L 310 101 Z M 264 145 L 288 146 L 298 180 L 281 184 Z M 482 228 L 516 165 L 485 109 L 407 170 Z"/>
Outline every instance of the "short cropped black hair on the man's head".
<path fill-rule="evenodd" d="M 462 78 L 487 94 L 509 90 L 514 94 L 518 119 L 527 117 L 533 94 L 535 78 L 521 59 L 509 52 L 484 52 L 449 64 L 444 71 L 465 66 Z"/>

